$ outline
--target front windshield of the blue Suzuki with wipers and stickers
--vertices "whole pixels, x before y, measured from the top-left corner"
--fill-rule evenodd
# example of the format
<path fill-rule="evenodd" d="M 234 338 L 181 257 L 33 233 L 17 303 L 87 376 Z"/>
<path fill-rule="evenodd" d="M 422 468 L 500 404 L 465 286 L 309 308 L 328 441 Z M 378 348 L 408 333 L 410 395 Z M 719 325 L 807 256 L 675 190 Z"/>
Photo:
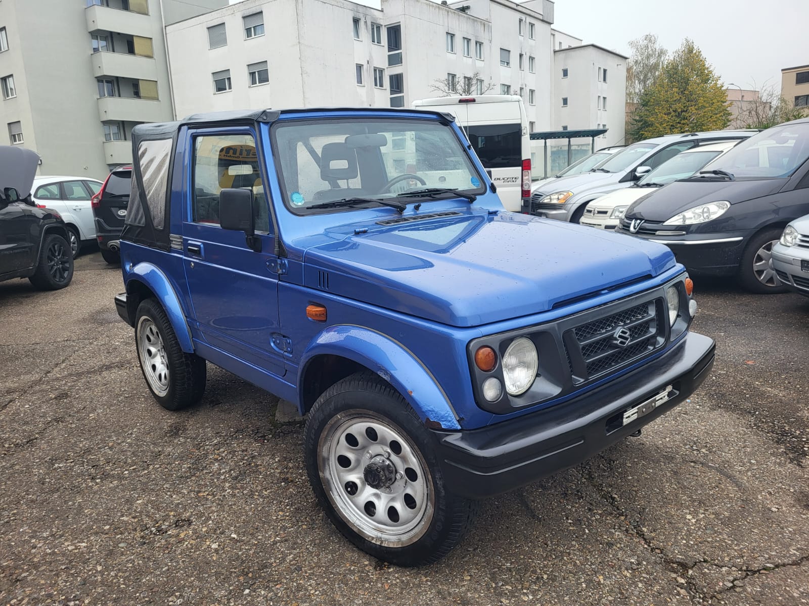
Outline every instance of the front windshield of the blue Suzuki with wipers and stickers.
<path fill-rule="evenodd" d="M 406 197 L 427 189 L 485 192 L 459 137 L 438 120 L 290 120 L 273 126 L 272 137 L 284 201 L 295 213 L 337 200 L 362 199 L 336 206 L 346 210 L 374 200 L 447 197 Z"/>

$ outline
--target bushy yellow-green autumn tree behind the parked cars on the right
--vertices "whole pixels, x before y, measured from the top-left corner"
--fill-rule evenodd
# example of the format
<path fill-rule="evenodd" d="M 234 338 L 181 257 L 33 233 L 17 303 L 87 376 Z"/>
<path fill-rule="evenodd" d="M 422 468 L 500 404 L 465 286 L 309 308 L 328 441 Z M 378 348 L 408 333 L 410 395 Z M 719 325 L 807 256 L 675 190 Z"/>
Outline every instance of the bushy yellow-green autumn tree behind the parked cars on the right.
<path fill-rule="evenodd" d="M 684 40 L 641 94 L 629 137 L 722 130 L 731 121 L 727 93 L 700 49 Z"/>

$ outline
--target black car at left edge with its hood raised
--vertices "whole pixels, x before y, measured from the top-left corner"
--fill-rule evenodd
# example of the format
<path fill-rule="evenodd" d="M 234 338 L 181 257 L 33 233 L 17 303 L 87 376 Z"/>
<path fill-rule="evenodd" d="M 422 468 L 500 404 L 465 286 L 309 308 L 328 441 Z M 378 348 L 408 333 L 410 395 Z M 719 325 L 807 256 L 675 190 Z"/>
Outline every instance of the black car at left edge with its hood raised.
<path fill-rule="evenodd" d="M 0 145 L 0 281 L 28 278 L 57 290 L 73 278 L 73 254 L 59 213 L 31 199 L 39 160 L 30 149 Z"/>

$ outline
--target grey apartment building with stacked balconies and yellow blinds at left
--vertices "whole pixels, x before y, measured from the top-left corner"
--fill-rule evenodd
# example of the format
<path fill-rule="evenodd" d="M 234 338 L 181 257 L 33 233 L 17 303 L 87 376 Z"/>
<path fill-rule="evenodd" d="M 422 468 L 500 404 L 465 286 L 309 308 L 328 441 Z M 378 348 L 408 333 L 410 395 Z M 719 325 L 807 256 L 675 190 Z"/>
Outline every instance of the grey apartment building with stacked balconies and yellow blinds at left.
<path fill-rule="evenodd" d="M 0 0 L 0 145 L 104 179 L 133 124 L 172 119 L 163 24 L 227 0 Z M 161 7 L 164 12 L 161 12 Z"/>

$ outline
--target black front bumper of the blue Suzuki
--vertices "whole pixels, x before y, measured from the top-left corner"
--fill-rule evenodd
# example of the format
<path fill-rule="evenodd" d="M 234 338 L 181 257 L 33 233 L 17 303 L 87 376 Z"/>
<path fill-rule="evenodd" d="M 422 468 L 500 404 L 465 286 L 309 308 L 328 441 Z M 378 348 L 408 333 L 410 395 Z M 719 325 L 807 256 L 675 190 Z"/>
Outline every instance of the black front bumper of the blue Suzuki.
<path fill-rule="evenodd" d="M 688 333 L 663 356 L 568 402 L 481 429 L 435 431 L 447 489 L 483 499 L 578 465 L 683 402 L 713 365 L 714 340 Z M 621 424 L 625 411 L 667 385 L 667 400 Z"/>

